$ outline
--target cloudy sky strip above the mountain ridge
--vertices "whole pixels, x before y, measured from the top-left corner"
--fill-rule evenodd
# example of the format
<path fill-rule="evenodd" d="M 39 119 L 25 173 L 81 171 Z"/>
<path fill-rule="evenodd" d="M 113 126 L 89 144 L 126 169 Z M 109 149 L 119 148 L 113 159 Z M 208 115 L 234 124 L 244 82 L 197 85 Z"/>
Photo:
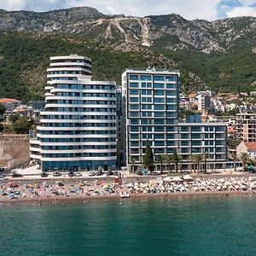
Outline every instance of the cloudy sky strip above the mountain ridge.
<path fill-rule="evenodd" d="M 0 0 L 0 9 L 48 11 L 94 7 L 104 15 L 182 15 L 187 20 L 256 16 L 256 0 Z"/>

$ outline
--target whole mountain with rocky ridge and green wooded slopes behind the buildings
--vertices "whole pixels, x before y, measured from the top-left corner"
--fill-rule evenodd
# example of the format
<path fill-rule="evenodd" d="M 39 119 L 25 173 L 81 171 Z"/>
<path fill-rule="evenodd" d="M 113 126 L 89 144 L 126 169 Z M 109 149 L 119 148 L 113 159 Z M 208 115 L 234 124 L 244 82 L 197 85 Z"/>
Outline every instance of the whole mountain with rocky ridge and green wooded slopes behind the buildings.
<path fill-rule="evenodd" d="M 0 96 L 44 96 L 50 55 L 81 54 L 94 79 L 120 83 L 125 67 L 178 68 L 183 90 L 255 90 L 256 18 L 103 15 L 89 7 L 0 10 Z M 20 90 L 22 88 L 22 90 Z"/>

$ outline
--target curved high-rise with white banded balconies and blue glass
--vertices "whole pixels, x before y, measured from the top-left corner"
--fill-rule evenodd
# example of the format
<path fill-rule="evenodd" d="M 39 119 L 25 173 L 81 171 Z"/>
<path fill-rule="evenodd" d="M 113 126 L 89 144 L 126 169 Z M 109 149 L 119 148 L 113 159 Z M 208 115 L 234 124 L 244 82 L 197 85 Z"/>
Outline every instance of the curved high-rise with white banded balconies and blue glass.
<path fill-rule="evenodd" d="M 50 61 L 32 158 L 40 160 L 44 171 L 115 166 L 115 84 L 91 81 L 87 57 L 56 56 Z"/>

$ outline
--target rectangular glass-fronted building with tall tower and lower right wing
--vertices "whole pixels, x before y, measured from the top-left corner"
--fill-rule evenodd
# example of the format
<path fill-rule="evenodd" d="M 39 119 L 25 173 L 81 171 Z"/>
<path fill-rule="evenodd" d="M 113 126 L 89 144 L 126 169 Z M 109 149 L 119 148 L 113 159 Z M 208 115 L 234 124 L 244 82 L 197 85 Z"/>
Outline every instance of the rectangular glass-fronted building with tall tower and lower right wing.
<path fill-rule="evenodd" d="M 172 70 L 126 69 L 122 74 L 126 165 L 143 162 L 146 142 L 154 155 L 173 154 L 189 162 L 191 154 L 227 160 L 227 125 L 179 123 L 180 73 Z"/>

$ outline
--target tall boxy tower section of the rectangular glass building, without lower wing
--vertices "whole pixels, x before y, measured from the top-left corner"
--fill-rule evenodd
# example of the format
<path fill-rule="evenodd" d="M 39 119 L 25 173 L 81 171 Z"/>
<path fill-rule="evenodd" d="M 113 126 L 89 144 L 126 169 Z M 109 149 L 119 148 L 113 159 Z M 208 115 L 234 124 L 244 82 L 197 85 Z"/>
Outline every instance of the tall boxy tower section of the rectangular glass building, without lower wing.
<path fill-rule="evenodd" d="M 178 71 L 126 69 L 122 74 L 125 99 L 126 161 L 143 161 L 147 140 L 154 154 L 172 153 L 168 134 L 178 121 Z"/>

